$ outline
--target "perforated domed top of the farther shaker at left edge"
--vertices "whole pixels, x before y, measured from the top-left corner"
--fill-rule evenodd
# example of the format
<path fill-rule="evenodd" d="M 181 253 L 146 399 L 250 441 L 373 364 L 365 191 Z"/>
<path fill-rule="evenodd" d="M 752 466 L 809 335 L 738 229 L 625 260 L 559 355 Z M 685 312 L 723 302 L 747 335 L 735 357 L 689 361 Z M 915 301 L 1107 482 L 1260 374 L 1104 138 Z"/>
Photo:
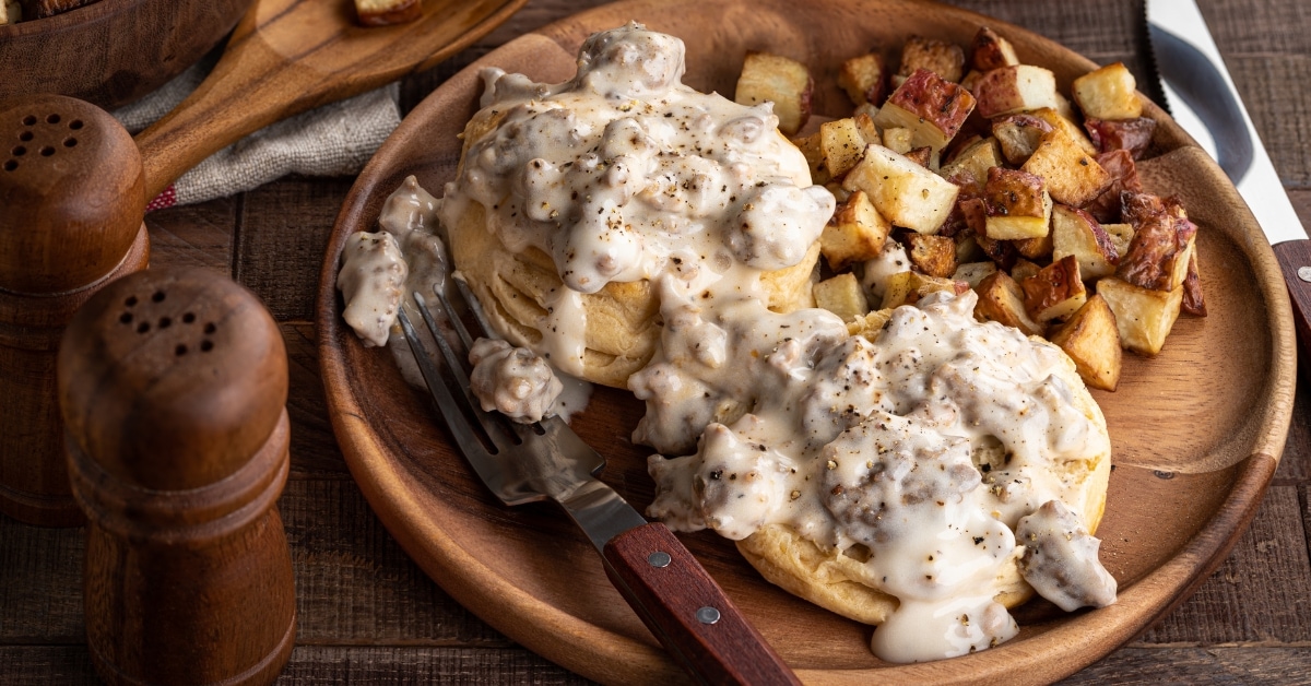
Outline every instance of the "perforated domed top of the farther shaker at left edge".
<path fill-rule="evenodd" d="M 0 209 L 0 289 L 52 294 L 94 283 L 122 261 L 146 214 L 136 143 L 81 100 L 3 100 Z"/>

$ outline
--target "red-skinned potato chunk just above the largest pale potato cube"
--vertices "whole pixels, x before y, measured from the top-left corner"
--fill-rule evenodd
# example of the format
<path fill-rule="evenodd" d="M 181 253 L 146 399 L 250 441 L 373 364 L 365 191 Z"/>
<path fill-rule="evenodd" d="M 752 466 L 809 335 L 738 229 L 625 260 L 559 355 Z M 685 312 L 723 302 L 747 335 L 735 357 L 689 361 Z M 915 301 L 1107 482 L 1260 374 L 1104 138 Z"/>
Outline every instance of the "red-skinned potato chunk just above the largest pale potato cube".
<path fill-rule="evenodd" d="M 940 152 L 974 111 L 974 96 L 928 70 L 916 70 L 888 102 L 878 108 L 874 123 L 909 129 L 912 148 L 928 146 Z"/>

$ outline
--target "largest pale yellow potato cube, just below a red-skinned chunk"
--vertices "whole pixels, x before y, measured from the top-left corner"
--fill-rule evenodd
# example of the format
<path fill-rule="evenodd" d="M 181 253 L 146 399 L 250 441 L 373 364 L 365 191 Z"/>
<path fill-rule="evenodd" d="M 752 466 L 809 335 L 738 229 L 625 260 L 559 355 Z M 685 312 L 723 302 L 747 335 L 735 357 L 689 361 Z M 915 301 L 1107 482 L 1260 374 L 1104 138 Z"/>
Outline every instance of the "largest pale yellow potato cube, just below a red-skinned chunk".
<path fill-rule="evenodd" d="M 842 186 L 869 194 L 894 226 L 935 233 L 952 212 L 960 189 L 950 181 L 882 147 L 869 146 Z"/>

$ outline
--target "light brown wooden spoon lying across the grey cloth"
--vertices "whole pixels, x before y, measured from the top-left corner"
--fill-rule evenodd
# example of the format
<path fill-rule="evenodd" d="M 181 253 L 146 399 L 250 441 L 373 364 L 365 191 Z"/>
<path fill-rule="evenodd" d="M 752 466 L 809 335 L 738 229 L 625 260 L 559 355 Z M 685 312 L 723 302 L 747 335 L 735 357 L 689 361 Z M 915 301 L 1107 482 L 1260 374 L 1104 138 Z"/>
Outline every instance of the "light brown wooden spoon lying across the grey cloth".
<path fill-rule="evenodd" d="M 256 0 L 205 83 L 136 135 L 147 197 L 270 123 L 442 62 L 526 1 L 426 0 L 413 22 L 364 28 L 349 0 Z"/>

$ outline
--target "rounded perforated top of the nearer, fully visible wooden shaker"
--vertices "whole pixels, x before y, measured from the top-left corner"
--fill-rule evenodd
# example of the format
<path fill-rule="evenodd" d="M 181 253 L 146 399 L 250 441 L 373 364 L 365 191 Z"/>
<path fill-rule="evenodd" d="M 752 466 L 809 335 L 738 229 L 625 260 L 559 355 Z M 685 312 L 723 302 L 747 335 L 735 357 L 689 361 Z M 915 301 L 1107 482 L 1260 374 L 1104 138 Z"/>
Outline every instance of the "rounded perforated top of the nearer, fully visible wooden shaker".
<path fill-rule="evenodd" d="M 203 268 L 97 293 L 59 352 L 69 439 L 130 484 L 184 491 L 236 472 L 287 403 L 287 353 L 250 291 Z"/>

